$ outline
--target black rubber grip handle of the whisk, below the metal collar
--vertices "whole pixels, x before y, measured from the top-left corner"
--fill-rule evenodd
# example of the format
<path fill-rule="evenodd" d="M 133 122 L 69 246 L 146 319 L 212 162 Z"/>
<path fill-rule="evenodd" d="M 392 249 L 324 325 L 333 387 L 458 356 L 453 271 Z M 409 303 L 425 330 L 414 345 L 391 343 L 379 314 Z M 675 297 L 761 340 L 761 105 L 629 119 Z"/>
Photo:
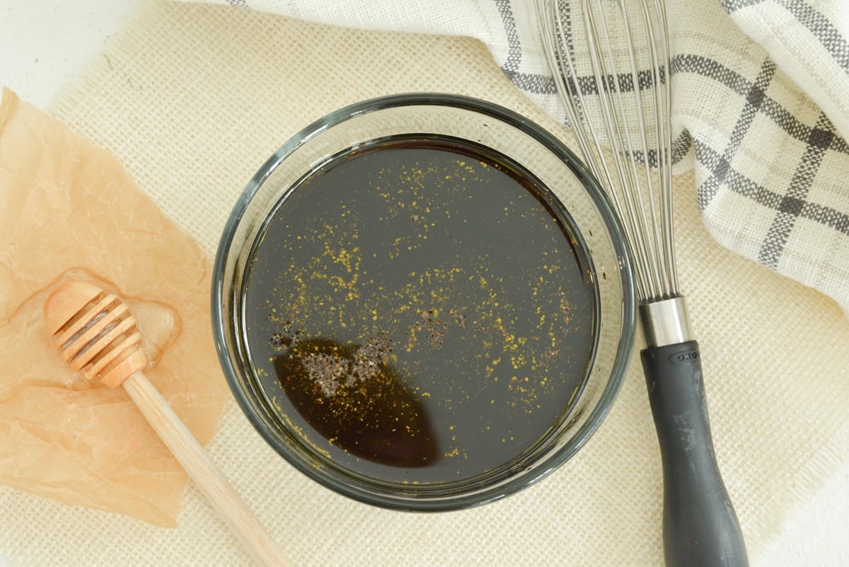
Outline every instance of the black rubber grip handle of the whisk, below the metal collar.
<path fill-rule="evenodd" d="M 746 567 L 743 534 L 713 450 L 699 344 L 640 354 L 661 445 L 666 567 Z"/>

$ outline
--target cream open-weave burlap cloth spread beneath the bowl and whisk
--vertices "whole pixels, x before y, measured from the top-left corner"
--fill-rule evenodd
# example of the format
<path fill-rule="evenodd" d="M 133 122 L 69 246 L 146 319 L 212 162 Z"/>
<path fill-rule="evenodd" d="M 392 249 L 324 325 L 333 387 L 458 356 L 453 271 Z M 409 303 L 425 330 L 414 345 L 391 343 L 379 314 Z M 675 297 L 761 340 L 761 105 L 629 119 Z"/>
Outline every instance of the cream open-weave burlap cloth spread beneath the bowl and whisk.
<path fill-rule="evenodd" d="M 486 98 L 574 147 L 474 38 L 205 3 L 145 4 L 50 111 L 122 160 L 212 255 L 246 182 L 288 138 L 346 104 L 415 91 Z M 834 300 L 711 239 L 695 179 L 684 171 L 674 183 L 679 272 L 717 457 L 751 564 L 763 565 L 794 512 L 849 466 L 849 320 Z M 480 508 L 410 514 L 336 495 L 278 457 L 234 401 L 208 449 L 295 565 L 663 564 L 660 453 L 636 356 L 574 458 Z M 178 521 L 160 528 L 0 487 L 0 557 L 14 567 L 251 564 L 194 486 Z"/>

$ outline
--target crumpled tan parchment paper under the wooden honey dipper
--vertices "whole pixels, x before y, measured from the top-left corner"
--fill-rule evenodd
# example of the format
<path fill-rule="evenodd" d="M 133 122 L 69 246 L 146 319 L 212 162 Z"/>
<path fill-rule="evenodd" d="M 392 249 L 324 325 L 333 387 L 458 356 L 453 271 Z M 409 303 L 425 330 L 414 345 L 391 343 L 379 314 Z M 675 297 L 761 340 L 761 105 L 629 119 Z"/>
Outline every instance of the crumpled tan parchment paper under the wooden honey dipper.
<path fill-rule="evenodd" d="M 211 262 L 115 156 L 4 90 L 0 102 L 0 483 L 177 525 L 188 475 L 122 388 L 59 360 L 43 319 L 59 283 L 116 292 L 145 370 L 201 443 L 228 389 L 211 336 Z"/>

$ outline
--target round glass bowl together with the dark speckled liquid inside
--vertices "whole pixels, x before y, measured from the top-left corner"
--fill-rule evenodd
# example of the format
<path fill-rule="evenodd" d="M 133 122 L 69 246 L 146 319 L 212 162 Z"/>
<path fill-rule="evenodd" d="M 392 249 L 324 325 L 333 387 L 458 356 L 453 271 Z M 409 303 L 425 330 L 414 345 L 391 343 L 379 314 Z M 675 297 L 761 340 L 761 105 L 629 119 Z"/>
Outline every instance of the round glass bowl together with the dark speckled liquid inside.
<path fill-rule="evenodd" d="M 633 346 L 630 266 L 604 192 L 542 127 L 456 95 L 375 98 L 250 180 L 213 333 L 239 407 L 296 469 L 385 508 L 467 508 L 599 427 Z"/>

